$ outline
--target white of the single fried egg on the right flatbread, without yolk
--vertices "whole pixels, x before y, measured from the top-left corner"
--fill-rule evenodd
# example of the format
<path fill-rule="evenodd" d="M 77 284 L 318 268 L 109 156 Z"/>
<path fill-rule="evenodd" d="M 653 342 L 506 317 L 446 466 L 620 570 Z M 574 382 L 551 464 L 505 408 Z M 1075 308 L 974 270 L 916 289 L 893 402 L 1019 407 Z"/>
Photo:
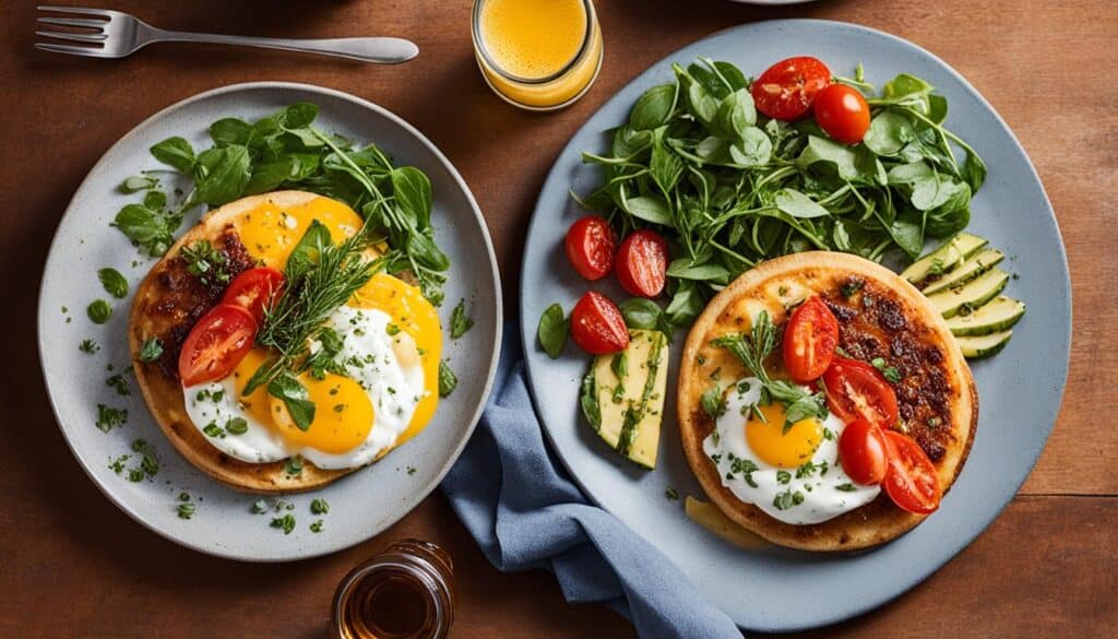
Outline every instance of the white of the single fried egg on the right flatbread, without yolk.
<path fill-rule="evenodd" d="M 833 414 L 823 420 L 824 432 L 830 432 L 830 435 L 824 436 L 811 459 L 816 467 L 826 462 L 826 472 L 816 470 L 809 476 L 797 478 L 797 469 L 784 469 L 790 474 L 790 479 L 787 483 L 781 483 L 778 479 L 783 474 L 779 472 L 781 469 L 762 460 L 746 439 L 745 415 L 757 405 L 760 396 L 761 383 L 758 378 L 747 377 L 737 382 L 727 393 L 726 412 L 716 421 L 714 431 L 703 440 L 703 452 L 718 468 L 722 486 L 735 497 L 757 506 L 774 519 L 786 524 L 808 525 L 826 521 L 864 506 L 881 492 L 879 486 L 855 483 L 843 471 L 839 461 L 839 436 L 846 424 Z M 749 474 L 756 487 L 750 486 L 743 473 L 735 472 L 733 459 L 750 460 L 757 464 L 758 470 Z M 777 507 L 777 496 L 786 491 L 802 495 L 803 501 L 788 508 Z"/>

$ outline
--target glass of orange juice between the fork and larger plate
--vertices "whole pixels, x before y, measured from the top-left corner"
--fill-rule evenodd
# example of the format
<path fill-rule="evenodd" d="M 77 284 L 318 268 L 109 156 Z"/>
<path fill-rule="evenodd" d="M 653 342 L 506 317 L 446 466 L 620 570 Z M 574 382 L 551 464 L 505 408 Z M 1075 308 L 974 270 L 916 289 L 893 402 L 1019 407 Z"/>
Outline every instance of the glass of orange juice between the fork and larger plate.
<path fill-rule="evenodd" d="M 474 0 L 472 30 L 485 82 L 521 109 L 562 109 L 601 68 L 601 29 L 590 0 Z"/>

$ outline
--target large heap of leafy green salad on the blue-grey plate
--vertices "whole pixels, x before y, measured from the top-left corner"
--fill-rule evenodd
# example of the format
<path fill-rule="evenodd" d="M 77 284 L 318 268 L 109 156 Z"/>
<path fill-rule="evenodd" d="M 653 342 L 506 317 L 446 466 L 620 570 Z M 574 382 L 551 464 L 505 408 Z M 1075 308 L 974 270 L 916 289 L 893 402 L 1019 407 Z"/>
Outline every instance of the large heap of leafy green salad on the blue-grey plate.
<path fill-rule="evenodd" d="M 916 259 L 927 236 L 969 223 L 986 167 L 944 126 L 947 101 L 927 82 L 901 74 L 872 95 L 861 69 L 836 78 L 871 94 L 870 130 L 845 145 L 813 120 L 758 114 L 749 81 L 729 63 L 699 58 L 673 71 L 673 83 L 636 101 L 606 152 L 582 153 L 601 167 L 600 186 L 571 194 L 622 235 L 652 228 L 669 239 L 672 325 L 689 325 L 761 260 L 809 248 Z"/>

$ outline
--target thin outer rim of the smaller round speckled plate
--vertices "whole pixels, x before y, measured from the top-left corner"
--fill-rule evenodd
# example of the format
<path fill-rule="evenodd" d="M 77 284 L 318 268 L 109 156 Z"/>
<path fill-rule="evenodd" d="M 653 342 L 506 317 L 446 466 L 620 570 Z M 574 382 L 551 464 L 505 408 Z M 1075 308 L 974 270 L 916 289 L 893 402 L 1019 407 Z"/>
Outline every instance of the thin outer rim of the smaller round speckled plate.
<path fill-rule="evenodd" d="M 471 209 L 471 213 L 473 214 L 474 220 L 476 222 L 477 226 L 481 229 L 482 237 L 483 237 L 484 244 L 485 244 L 485 253 L 489 256 L 490 275 L 492 276 L 492 281 L 493 281 L 493 284 L 494 284 L 493 310 L 495 311 L 494 312 L 494 318 L 495 318 L 494 321 L 496 322 L 494 331 L 493 331 L 494 337 L 493 337 L 493 341 L 492 341 L 492 345 L 491 345 L 492 353 L 491 353 L 491 356 L 490 356 L 490 359 L 489 359 L 489 364 L 487 364 L 487 372 L 485 374 L 485 382 L 482 385 L 481 400 L 479 401 L 477 406 L 474 408 L 473 414 L 470 417 L 470 422 L 468 422 L 468 424 L 467 424 L 464 433 L 462 434 L 458 443 L 455 445 L 454 451 L 452 452 L 452 454 L 446 459 L 446 461 L 434 473 L 433 479 L 430 481 L 428 481 L 426 485 L 424 485 L 423 487 L 420 487 L 418 490 L 415 490 L 415 491 L 411 492 L 411 495 L 416 496 L 414 504 L 411 504 L 407 508 L 402 509 L 395 517 L 389 517 L 389 518 L 385 519 L 380 524 L 379 527 L 373 526 L 373 527 L 369 528 L 368 530 L 363 530 L 363 529 L 357 528 L 356 529 L 357 530 L 356 534 L 352 537 L 350 537 L 350 538 L 343 538 L 341 536 L 332 537 L 331 538 L 332 541 L 325 543 L 322 547 L 312 549 L 310 552 L 303 551 L 303 548 L 305 546 L 299 546 L 299 547 L 295 548 L 295 552 L 293 554 L 291 554 L 291 555 L 284 555 L 284 556 L 244 556 L 244 555 L 240 555 L 240 554 L 238 554 L 236 552 L 231 552 L 231 551 L 229 551 L 229 549 L 227 549 L 227 548 L 225 548 L 222 546 L 212 546 L 212 545 L 206 545 L 206 544 L 202 544 L 202 543 L 197 543 L 196 542 L 196 537 L 193 537 L 193 536 L 183 535 L 182 537 L 177 537 L 177 536 L 172 535 L 171 533 L 161 529 L 154 523 L 149 521 L 141 513 L 138 511 L 138 509 L 132 508 L 123 499 L 117 498 L 117 496 L 115 494 L 115 490 L 113 488 L 111 488 L 110 486 L 107 486 L 106 483 L 102 482 L 97 478 L 97 476 L 93 472 L 92 462 L 88 461 L 85 458 L 85 455 L 83 454 L 83 452 L 80 452 L 78 450 L 78 448 L 75 444 L 74 440 L 70 438 L 69 432 L 67 431 L 66 426 L 63 424 L 63 420 L 60 417 L 60 412 L 59 412 L 59 407 L 58 407 L 58 400 L 56 400 L 56 396 L 55 396 L 56 393 L 51 388 L 51 385 L 50 385 L 50 375 L 49 375 L 49 372 L 48 372 L 47 360 L 46 360 L 46 357 L 45 357 L 45 340 L 46 340 L 46 336 L 48 333 L 48 329 L 47 329 L 47 327 L 45 326 L 44 322 L 47 321 L 47 312 L 48 311 L 47 311 L 46 308 L 44 308 L 44 304 L 46 303 L 46 290 L 47 290 L 47 285 L 48 285 L 48 278 L 47 278 L 48 267 L 49 267 L 50 262 L 51 262 L 51 256 L 55 255 L 55 251 L 56 251 L 57 244 L 59 242 L 59 232 L 61 229 L 63 222 L 72 213 L 74 213 L 76 210 L 76 208 L 77 208 L 77 203 L 76 203 L 77 195 L 79 192 L 82 192 L 86 188 L 86 186 L 89 184 L 89 180 L 91 180 L 92 176 L 95 172 L 97 172 L 98 169 L 104 168 L 103 166 L 107 166 L 107 160 L 114 153 L 114 151 L 116 151 L 119 148 L 123 147 L 126 142 L 132 141 L 133 138 L 139 137 L 140 135 L 140 133 L 139 133 L 140 130 L 142 130 L 142 129 L 144 129 L 146 126 L 150 126 L 150 125 L 157 123 L 158 121 L 160 121 L 163 118 L 170 115 L 171 113 L 180 111 L 182 109 L 186 109 L 186 107 L 195 104 L 196 102 L 202 102 L 202 101 L 211 98 L 211 97 L 216 97 L 216 96 L 220 96 L 220 95 L 225 95 L 225 94 L 229 94 L 229 93 L 238 93 L 238 92 L 243 92 L 243 91 L 257 91 L 257 90 L 302 91 L 302 92 L 306 92 L 306 93 L 311 93 L 311 94 L 326 95 L 329 97 L 333 97 L 333 98 L 338 98 L 338 100 L 343 100 L 343 101 L 353 103 L 353 104 L 356 104 L 358 106 L 361 106 L 362 109 L 366 109 L 368 111 L 372 111 L 372 112 L 377 113 L 378 115 L 387 119 L 389 122 L 391 122 L 396 126 L 399 126 L 405 133 L 407 133 L 414 140 L 416 140 L 417 142 L 419 142 L 420 145 L 423 145 L 424 148 L 426 148 L 426 150 L 428 152 L 430 152 L 434 156 L 434 158 L 438 162 L 440 162 L 444 166 L 444 168 L 447 170 L 447 172 L 454 178 L 455 186 L 465 195 L 466 201 L 470 204 L 470 209 Z M 75 215 L 76 215 L 76 213 L 75 213 Z M 386 109 L 383 106 L 380 106 L 379 104 L 377 104 L 375 102 L 371 102 L 369 100 L 366 100 L 366 98 L 357 96 L 357 95 L 353 95 L 351 93 L 348 93 L 348 92 L 344 92 L 344 91 L 340 91 L 340 90 L 337 90 L 337 88 L 330 88 L 330 87 L 326 87 L 326 86 L 320 86 L 320 85 L 315 85 L 315 84 L 301 83 L 301 82 L 254 81 L 254 82 L 241 82 L 241 83 L 235 83 L 235 84 L 227 84 L 227 85 L 222 85 L 222 86 L 217 86 L 217 87 L 214 87 L 214 88 L 209 88 L 209 90 L 202 91 L 200 93 L 196 93 L 193 95 L 189 95 L 187 97 L 183 97 L 182 100 L 176 101 L 176 102 L 171 103 L 170 105 L 160 109 L 159 111 L 157 111 L 152 115 L 149 115 L 148 118 L 145 118 L 144 120 L 142 120 L 140 123 L 138 123 L 134 126 L 132 126 L 126 133 L 124 133 L 124 135 L 122 135 L 120 139 L 117 139 L 115 142 L 113 142 L 113 144 L 111 144 L 101 154 L 100 158 L 97 158 L 97 161 L 93 163 L 93 166 L 86 172 L 85 177 L 78 184 L 77 188 L 74 189 L 74 194 L 70 196 L 69 203 L 67 203 L 66 208 L 63 210 L 61 216 L 59 216 L 59 218 L 58 218 L 57 226 L 55 227 L 54 234 L 51 235 L 51 238 L 50 238 L 50 245 L 47 248 L 46 259 L 44 260 L 44 265 L 42 265 L 42 274 L 41 274 L 41 279 L 40 279 L 40 282 L 39 282 L 38 300 L 37 300 L 37 304 L 36 304 L 36 312 L 37 312 L 36 332 L 38 333 L 37 335 L 37 340 L 36 340 L 36 347 L 38 349 L 38 356 L 39 356 L 38 357 L 38 359 L 39 359 L 39 369 L 42 373 L 42 384 L 44 384 L 44 387 L 45 387 L 45 389 L 47 392 L 47 400 L 50 403 L 50 411 L 54 414 L 55 423 L 57 424 L 58 430 L 61 431 L 63 439 L 66 441 L 66 445 L 69 449 L 70 453 L 77 460 L 78 466 L 82 467 L 82 470 L 85 471 L 86 476 L 89 478 L 89 480 L 93 482 L 93 485 L 96 486 L 97 489 L 106 498 L 108 498 L 108 500 L 114 506 L 116 506 L 120 510 L 122 510 L 124 514 L 126 514 L 133 520 L 135 520 L 136 523 L 139 523 L 140 525 L 142 525 L 144 528 L 146 528 L 146 529 L 155 533 L 160 537 L 162 537 L 162 538 L 164 538 L 164 539 L 167 539 L 169 542 L 172 542 L 172 543 L 174 543 L 174 544 L 177 544 L 179 546 L 183 546 L 183 547 L 190 548 L 192 551 L 196 551 L 196 552 L 199 552 L 199 553 L 202 553 L 202 554 L 206 554 L 206 555 L 211 555 L 211 556 L 221 557 L 221 558 L 226 558 L 226 560 L 240 561 L 240 562 L 246 562 L 246 563 L 262 563 L 262 564 L 285 563 L 285 562 L 303 561 L 303 560 L 309 560 L 309 558 L 313 558 L 313 557 L 320 557 L 320 556 L 333 554 L 333 553 L 343 551 L 345 548 L 353 547 L 353 546 L 356 546 L 358 544 L 364 543 L 364 542 L 371 539 L 372 537 L 376 537 L 377 535 L 383 533 L 385 530 L 387 530 L 388 528 L 390 528 L 391 526 L 394 526 L 396 523 L 398 523 L 405 516 L 409 515 L 413 510 L 415 510 L 425 499 L 427 499 L 428 496 L 430 496 L 432 492 L 434 492 L 434 490 L 438 487 L 438 485 L 442 483 L 443 478 L 446 476 L 447 472 L 449 472 L 451 467 L 454 466 L 454 463 L 462 455 L 462 451 L 465 449 L 466 443 L 468 443 L 471 436 L 473 435 L 474 429 L 477 427 L 477 423 L 481 421 L 482 412 L 485 410 L 485 406 L 489 403 L 489 397 L 490 397 L 490 395 L 491 395 L 491 393 L 493 391 L 493 382 L 494 382 L 494 378 L 496 376 L 496 368 L 498 368 L 498 358 L 499 358 L 500 353 L 501 353 L 501 341 L 502 341 L 502 338 L 503 338 L 503 331 L 502 331 L 502 327 L 501 327 L 501 318 L 503 317 L 503 313 L 504 313 L 504 308 L 503 307 L 504 307 L 504 299 L 503 299 L 503 289 L 502 289 L 502 284 L 501 284 L 501 273 L 500 273 L 500 270 L 498 267 L 496 253 L 493 250 L 493 241 L 492 241 L 492 237 L 490 236 L 489 225 L 485 222 L 485 216 L 482 214 L 481 207 L 477 205 L 477 200 L 474 198 L 474 194 L 470 189 L 470 185 L 466 182 L 465 178 L 462 177 L 462 173 L 458 172 L 458 169 L 454 166 L 454 163 L 451 162 L 451 160 L 443 153 L 442 150 L 439 150 L 438 147 L 435 145 L 434 142 L 432 142 L 426 135 L 424 135 L 418 129 L 416 129 L 411 123 L 409 123 L 408 121 L 406 121 L 404 118 L 397 115 L 396 113 L 389 111 L 388 109 Z M 146 405 L 145 405 L 145 408 L 146 408 Z M 148 410 L 150 411 L 150 408 L 148 408 Z M 206 481 L 216 481 L 212 478 L 208 478 L 208 477 L 205 478 L 205 480 Z"/>

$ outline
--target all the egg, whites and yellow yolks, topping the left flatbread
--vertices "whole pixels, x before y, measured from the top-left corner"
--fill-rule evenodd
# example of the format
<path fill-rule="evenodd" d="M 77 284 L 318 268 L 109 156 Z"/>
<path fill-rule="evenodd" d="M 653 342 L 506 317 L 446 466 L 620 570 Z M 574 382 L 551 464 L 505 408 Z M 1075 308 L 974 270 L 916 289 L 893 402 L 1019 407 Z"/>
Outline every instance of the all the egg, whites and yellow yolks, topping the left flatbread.
<path fill-rule="evenodd" d="M 265 203 L 234 226 L 248 253 L 282 270 L 313 220 L 333 242 L 356 234 L 361 218 L 345 205 L 316 198 L 280 207 Z M 216 448 L 249 463 L 301 455 L 321 469 L 364 466 L 407 441 L 430 421 L 438 402 L 442 327 L 419 289 L 386 273 L 368 283 L 325 322 L 341 340 L 333 370 L 296 378 L 315 406 L 300 429 L 282 401 L 265 387 L 244 395 L 253 374 L 271 357 L 255 347 L 222 379 L 183 388 L 187 414 Z M 307 345 L 313 355 L 322 344 Z"/>

